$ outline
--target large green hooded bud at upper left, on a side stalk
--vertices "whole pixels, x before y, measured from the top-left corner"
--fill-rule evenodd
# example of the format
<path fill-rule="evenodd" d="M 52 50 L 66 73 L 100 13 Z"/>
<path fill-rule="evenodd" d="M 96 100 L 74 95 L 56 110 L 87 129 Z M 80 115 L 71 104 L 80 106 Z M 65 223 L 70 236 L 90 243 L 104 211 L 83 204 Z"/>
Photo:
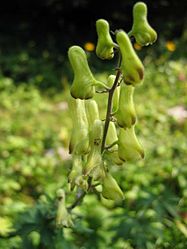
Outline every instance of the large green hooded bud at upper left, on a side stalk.
<path fill-rule="evenodd" d="M 72 46 L 68 50 L 68 57 L 74 71 L 71 96 L 75 99 L 92 98 L 95 94 L 94 85 L 98 81 L 90 71 L 85 51 L 79 46 Z"/>

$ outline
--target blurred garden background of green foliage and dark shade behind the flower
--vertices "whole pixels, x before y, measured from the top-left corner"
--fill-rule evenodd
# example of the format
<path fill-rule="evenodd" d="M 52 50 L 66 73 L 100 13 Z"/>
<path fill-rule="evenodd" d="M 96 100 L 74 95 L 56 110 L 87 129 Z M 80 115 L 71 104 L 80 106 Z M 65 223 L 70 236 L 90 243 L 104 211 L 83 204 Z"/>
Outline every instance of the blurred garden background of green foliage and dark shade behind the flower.
<path fill-rule="evenodd" d="M 0 248 L 187 248 L 187 3 L 145 1 L 158 32 L 135 44 L 146 73 L 135 92 L 137 134 L 145 160 L 111 172 L 125 193 L 119 206 L 95 194 L 73 212 L 75 227 L 54 226 L 55 192 L 71 167 L 68 111 L 73 73 L 67 49 L 87 50 L 97 79 L 115 59 L 94 53 L 95 21 L 129 31 L 136 1 L 2 1 L 0 9 Z M 101 110 L 102 98 L 96 97 Z"/>

